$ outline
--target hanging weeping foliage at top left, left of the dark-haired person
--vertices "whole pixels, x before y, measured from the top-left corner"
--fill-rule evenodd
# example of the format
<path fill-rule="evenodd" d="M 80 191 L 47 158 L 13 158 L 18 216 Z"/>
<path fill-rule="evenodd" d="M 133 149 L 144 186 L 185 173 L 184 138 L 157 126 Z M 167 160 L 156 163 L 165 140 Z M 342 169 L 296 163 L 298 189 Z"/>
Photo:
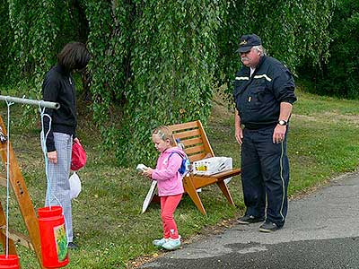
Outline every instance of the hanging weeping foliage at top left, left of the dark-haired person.
<path fill-rule="evenodd" d="M 41 72 L 50 66 L 54 40 L 58 34 L 56 1 L 20 1 L 9 3 L 9 18 L 13 30 L 13 81 L 30 78 L 39 86 Z M 38 92 L 31 92 L 38 95 Z"/>

